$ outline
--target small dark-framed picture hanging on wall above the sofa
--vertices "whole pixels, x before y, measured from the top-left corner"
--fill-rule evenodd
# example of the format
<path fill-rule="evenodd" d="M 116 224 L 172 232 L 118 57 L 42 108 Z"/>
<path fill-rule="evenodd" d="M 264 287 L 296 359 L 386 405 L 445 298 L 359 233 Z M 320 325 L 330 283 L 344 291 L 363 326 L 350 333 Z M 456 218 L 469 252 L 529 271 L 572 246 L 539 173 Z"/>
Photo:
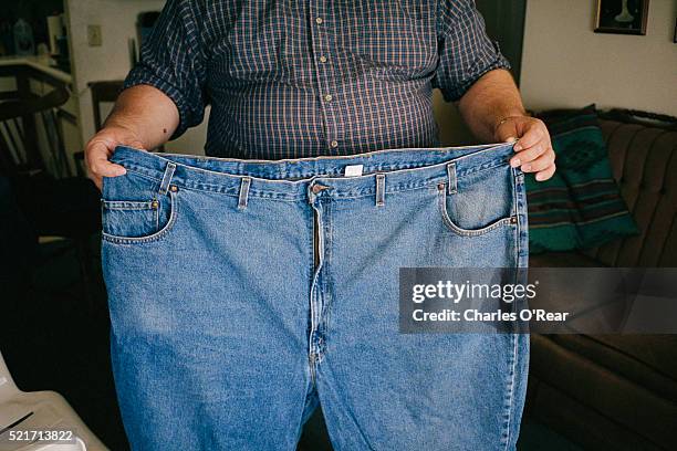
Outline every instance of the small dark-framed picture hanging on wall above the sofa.
<path fill-rule="evenodd" d="M 597 0 L 595 33 L 646 34 L 649 0 Z"/>

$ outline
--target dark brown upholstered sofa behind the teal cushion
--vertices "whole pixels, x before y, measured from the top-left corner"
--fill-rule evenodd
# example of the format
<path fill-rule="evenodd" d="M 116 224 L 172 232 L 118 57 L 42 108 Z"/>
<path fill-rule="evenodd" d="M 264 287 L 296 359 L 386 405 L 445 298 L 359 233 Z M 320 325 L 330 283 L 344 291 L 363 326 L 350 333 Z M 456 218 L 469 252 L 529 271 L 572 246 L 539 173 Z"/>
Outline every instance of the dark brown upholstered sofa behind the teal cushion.
<path fill-rule="evenodd" d="M 532 266 L 677 266 L 677 127 L 603 114 L 640 234 Z M 677 283 L 677 281 L 675 281 Z M 528 415 L 591 450 L 677 450 L 677 335 L 533 335 Z"/>

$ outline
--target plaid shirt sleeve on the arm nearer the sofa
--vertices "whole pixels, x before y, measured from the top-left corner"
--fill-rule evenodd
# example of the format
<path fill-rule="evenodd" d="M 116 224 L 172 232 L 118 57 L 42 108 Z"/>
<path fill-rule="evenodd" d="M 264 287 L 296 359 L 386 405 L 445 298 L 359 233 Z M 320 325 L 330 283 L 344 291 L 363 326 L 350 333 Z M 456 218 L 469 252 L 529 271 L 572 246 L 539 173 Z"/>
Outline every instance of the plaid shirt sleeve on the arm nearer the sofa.
<path fill-rule="evenodd" d="M 440 0 L 437 24 L 439 64 L 433 84 L 447 102 L 458 101 L 487 72 L 510 69 L 473 0 Z"/>

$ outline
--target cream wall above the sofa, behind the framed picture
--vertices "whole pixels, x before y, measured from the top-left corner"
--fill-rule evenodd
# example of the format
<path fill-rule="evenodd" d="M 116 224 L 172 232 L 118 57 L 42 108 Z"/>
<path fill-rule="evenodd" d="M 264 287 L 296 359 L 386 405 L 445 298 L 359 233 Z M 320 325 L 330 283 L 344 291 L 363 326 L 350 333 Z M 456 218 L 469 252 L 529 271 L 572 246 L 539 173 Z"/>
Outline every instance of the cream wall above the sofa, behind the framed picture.
<path fill-rule="evenodd" d="M 596 0 L 527 2 L 529 108 L 625 107 L 677 116 L 677 1 L 650 0 L 645 36 L 594 33 Z"/>

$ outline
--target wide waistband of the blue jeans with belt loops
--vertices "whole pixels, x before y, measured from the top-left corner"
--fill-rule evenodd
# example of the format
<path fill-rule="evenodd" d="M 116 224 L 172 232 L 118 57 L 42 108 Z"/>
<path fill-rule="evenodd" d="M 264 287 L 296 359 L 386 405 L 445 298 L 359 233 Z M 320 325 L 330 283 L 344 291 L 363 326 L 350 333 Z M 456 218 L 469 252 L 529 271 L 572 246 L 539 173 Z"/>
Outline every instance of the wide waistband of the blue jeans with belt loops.
<path fill-rule="evenodd" d="M 239 196 L 246 185 L 250 197 L 300 200 L 319 185 L 322 189 L 313 191 L 317 196 L 357 198 L 458 180 L 508 165 L 513 145 L 387 149 L 282 160 L 160 154 L 118 146 L 111 161 L 157 180 L 164 189 L 171 183 Z M 346 167 L 351 166 L 355 168 L 348 172 L 357 175 L 346 176 Z"/>

